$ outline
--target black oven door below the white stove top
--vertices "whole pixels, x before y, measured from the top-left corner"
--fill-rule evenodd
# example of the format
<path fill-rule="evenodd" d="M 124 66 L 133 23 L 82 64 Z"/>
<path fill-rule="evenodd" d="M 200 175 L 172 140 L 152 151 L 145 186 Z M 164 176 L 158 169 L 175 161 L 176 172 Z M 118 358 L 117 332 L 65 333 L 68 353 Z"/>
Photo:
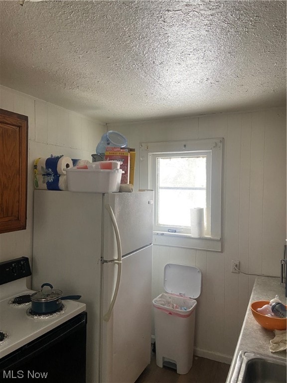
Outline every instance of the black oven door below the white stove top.
<path fill-rule="evenodd" d="M 0 381 L 85 383 L 87 313 L 83 312 L 0 360 Z"/>

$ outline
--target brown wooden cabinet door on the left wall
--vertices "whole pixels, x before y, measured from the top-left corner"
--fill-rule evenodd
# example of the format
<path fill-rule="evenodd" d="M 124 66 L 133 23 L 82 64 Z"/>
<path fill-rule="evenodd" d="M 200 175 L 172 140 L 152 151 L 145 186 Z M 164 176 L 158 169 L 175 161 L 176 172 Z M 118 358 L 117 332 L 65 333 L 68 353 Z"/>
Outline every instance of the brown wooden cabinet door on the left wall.
<path fill-rule="evenodd" d="M 27 157 L 28 117 L 0 109 L 0 233 L 26 228 Z"/>

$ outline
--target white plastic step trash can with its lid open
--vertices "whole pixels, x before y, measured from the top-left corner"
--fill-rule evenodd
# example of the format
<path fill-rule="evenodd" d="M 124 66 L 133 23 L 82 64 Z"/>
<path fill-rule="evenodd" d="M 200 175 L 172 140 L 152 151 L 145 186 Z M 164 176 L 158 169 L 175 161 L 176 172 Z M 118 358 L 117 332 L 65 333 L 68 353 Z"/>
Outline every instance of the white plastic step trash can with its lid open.
<path fill-rule="evenodd" d="M 156 364 L 176 366 L 177 374 L 192 367 L 195 309 L 201 293 L 201 271 L 194 266 L 167 264 L 165 293 L 153 299 Z"/>

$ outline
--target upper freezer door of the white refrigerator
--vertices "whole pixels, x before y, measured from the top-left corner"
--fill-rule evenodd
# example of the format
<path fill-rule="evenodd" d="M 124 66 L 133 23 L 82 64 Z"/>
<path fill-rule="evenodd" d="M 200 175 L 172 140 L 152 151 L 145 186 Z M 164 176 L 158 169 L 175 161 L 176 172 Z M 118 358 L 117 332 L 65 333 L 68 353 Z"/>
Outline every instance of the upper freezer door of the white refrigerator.
<path fill-rule="evenodd" d="M 106 205 L 114 212 L 122 255 L 152 243 L 153 192 L 110 193 L 104 198 L 104 258 L 116 258 L 114 228 Z"/>

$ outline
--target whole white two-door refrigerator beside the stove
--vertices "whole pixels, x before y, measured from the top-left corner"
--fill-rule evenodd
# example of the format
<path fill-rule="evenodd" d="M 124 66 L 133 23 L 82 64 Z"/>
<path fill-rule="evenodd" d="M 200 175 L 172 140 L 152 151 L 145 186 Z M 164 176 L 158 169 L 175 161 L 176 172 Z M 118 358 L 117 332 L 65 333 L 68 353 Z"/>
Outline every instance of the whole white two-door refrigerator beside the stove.
<path fill-rule="evenodd" d="M 35 190 L 32 287 L 87 305 L 87 383 L 134 383 L 150 363 L 153 192 Z"/>

